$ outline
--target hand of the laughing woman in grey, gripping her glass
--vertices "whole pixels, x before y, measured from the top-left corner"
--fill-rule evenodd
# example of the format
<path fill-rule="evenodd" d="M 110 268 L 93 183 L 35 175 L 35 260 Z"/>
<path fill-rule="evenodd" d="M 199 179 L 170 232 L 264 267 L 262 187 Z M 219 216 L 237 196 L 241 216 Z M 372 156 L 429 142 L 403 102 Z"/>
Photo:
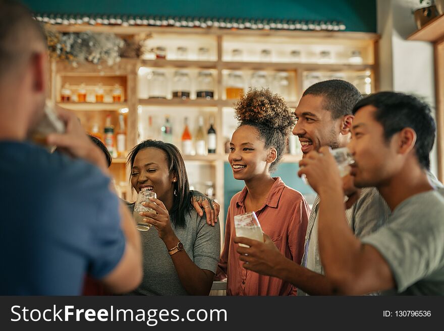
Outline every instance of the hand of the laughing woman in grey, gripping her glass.
<path fill-rule="evenodd" d="M 165 244 L 167 244 L 167 242 L 174 242 L 176 234 L 171 227 L 170 214 L 168 213 L 167 208 L 156 198 L 150 198 L 149 200 L 150 202 L 142 203 L 142 206 L 153 209 L 156 214 L 140 212 L 140 215 L 144 217 L 143 221 L 153 225 L 157 229 L 159 238 L 162 239 Z"/>

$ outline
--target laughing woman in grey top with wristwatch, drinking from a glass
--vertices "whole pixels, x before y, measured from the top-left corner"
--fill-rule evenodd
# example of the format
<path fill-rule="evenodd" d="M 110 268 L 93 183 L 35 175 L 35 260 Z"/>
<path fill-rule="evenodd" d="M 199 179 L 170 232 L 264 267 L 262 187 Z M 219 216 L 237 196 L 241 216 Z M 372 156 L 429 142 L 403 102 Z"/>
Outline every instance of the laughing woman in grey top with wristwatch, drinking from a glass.
<path fill-rule="evenodd" d="M 207 225 L 205 215 L 193 210 L 179 150 L 146 140 L 134 147 L 129 162 L 134 189 L 148 187 L 157 195 L 146 204 L 156 214 L 143 213 L 152 227 L 140 232 L 144 275 L 132 294 L 208 295 L 220 253 L 219 223 Z"/>

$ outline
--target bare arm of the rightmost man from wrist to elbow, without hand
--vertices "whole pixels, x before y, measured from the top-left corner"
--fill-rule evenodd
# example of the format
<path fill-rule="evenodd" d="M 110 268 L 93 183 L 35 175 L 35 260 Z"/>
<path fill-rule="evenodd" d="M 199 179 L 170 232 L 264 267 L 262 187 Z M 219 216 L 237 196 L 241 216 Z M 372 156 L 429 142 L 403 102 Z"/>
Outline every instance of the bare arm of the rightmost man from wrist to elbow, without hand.
<path fill-rule="evenodd" d="M 340 294 L 366 294 L 395 287 L 388 263 L 350 231 L 341 192 L 325 187 L 319 192 L 319 252 L 328 279 Z"/>

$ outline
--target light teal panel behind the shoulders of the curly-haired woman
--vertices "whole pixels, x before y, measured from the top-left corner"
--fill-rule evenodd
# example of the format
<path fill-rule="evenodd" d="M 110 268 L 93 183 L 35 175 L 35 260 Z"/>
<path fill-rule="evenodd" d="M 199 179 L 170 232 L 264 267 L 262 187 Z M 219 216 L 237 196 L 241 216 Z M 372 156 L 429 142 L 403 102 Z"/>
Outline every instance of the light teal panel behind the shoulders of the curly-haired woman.
<path fill-rule="evenodd" d="M 296 163 L 281 163 L 278 166 L 272 176 L 281 177 L 281 179 L 288 186 L 298 190 L 304 196 L 306 196 L 307 202 L 312 203 L 311 199 L 314 198 L 316 193 L 313 189 L 306 185 L 301 178 L 298 177 L 299 165 Z M 224 164 L 224 192 L 225 192 L 225 215 L 227 216 L 228 207 L 230 206 L 230 201 L 233 195 L 242 190 L 245 186 L 243 180 L 237 180 L 233 177 L 233 171 L 231 170 L 230 163 L 225 162 Z M 225 220 L 224 220 L 225 222 Z"/>

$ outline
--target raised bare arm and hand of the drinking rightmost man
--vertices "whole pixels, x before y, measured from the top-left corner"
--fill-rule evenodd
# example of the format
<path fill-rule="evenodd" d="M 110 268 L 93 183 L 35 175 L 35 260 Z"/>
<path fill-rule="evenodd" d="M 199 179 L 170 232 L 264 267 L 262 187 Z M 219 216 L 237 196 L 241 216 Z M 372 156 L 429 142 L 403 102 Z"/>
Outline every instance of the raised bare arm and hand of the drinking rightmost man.
<path fill-rule="evenodd" d="M 347 225 L 343 183 L 328 148 L 310 152 L 300 161 L 299 175 L 305 174 L 319 194 L 319 252 L 325 274 L 339 294 L 366 294 L 395 287 L 391 269 L 379 252 L 362 245 Z"/>

